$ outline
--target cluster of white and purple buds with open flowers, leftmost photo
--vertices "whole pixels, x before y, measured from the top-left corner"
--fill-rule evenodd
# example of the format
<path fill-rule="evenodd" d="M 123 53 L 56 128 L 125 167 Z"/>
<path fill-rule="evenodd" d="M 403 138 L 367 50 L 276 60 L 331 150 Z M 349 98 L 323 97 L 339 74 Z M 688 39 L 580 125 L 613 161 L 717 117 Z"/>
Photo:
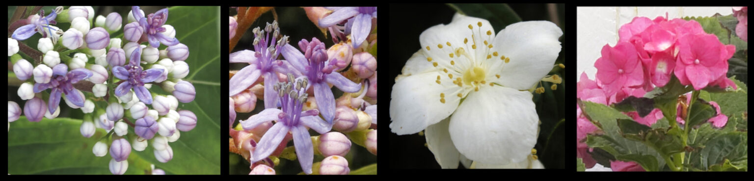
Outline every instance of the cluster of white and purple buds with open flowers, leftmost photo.
<path fill-rule="evenodd" d="M 125 173 L 131 149 L 144 151 L 148 142 L 158 161 L 170 161 L 173 150 L 168 143 L 179 139 L 179 130 L 192 130 L 197 123 L 193 112 L 178 109 L 179 102 L 190 103 L 196 95 L 192 83 L 182 80 L 189 73 L 183 61 L 189 56 L 188 47 L 175 38 L 173 26 L 164 24 L 167 8 L 145 16 L 133 6 L 122 37 L 111 37 L 121 29 L 124 18 L 120 14 L 99 15 L 93 21 L 95 15 L 93 8 L 83 6 L 58 7 L 47 17 L 41 11 L 20 20 L 28 24 L 8 38 L 8 57 L 16 78 L 23 81 L 18 96 L 27 100 L 26 119 L 56 118 L 62 98 L 67 106 L 84 113 L 83 137 L 92 137 L 97 128 L 109 132 L 97 138 L 100 141 L 92 152 L 98 157 L 110 153 L 113 174 Z M 71 28 L 63 31 L 51 26 L 56 23 L 70 23 Z M 19 52 L 19 46 L 32 41 L 27 39 L 35 32 L 42 35 L 33 40 L 38 41 L 37 49 Z M 160 44 L 167 48 L 158 50 Z M 25 60 L 19 54 L 30 57 L 32 51 L 43 56 Z M 155 94 L 150 89 L 156 87 L 171 94 Z M 8 102 L 9 125 L 21 110 L 17 103 Z"/>

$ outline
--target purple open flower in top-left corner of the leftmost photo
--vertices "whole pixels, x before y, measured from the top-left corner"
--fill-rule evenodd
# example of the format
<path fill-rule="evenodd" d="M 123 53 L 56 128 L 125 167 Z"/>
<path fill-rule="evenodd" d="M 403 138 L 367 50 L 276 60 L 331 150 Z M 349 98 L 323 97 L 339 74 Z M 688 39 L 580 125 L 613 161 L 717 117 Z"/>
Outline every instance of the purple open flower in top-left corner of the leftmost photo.
<path fill-rule="evenodd" d="M 17 40 L 25 40 L 32 37 L 35 32 L 39 32 L 42 38 L 47 38 L 48 35 L 52 35 L 52 30 L 57 30 L 50 26 L 55 23 L 55 17 L 57 14 L 52 11 L 47 17 L 44 17 L 44 10 L 39 12 L 39 15 L 32 15 L 29 17 L 29 24 L 24 25 L 16 29 L 13 32 L 13 38 Z M 44 32 L 44 28 L 48 28 L 48 32 Z"/>

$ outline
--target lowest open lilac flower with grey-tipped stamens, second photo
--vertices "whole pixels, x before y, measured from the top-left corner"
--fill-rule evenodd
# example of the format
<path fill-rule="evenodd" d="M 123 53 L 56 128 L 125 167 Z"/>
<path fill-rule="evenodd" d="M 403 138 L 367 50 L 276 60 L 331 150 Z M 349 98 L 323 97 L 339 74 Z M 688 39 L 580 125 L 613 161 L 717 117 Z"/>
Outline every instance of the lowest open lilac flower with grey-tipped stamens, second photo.
<path fill-rule="evenodd" d="M 277 123 L 262 136 L 262 140 L 259 140 L 250 160 L 256 162 L 267 158 L 290 131 L 293 133 L 293 143 L 296 146 L 299 164 L 305 173 L 310 174 L 311 162 L 314 160 L 314 146 L 312 146 L 306 127 L 310 127 L 317 133 L 327 133 L 332 125 L 317 116 L 319 115 L 317 109 L 301 111 L 308 97 L 306 94 L 308 80 L 305 77 L 297 78 L 294 84 L 293 75 L 288 74 L 288 82 L 277 83 L 272 87 L 280 99 L 282 108 L 265 109 L 259 114 L 252 115 L 247 121 L 241 121 L 244 130 L 251 130 L 259 124 L 277 120 Z"/>

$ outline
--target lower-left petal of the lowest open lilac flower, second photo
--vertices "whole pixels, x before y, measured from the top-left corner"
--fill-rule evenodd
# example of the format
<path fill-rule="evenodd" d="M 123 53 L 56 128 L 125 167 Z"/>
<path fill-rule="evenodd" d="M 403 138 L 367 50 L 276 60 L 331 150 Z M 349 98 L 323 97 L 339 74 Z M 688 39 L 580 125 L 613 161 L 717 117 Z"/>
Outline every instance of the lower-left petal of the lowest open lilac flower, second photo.
<path fill-rule="evenodd" d="M 288 127 L 282 122 L 270 127 L 267 133 L 262 136 L 262 140 L 256 143 L 254 154 L 251 155 L 251 162 L 260 161 L 270 156 L 277 149 L 277 146 L 280 145 L 280 142 L 283 141 L 286 134 L 288 134 Z"/>

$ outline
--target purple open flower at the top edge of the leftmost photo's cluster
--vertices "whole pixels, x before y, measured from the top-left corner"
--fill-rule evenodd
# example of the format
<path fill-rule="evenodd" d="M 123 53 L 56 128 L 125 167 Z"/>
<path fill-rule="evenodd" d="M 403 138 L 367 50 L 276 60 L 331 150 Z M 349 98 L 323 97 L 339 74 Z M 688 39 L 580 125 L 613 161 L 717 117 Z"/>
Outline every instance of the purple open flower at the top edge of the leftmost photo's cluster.
<path fill-rule="evenodd" d="M 133 18 L 139 21 L 139 25 L 144 29 L 147 40 L 153 48 L 160 47 L 160 43 L 167 46 L 173 46 L 179 43 L 178 38 L 170 38 L 163 35 L 161 32 L 165 32 L 165 28 L 162 26 L 167 21 L 167 8 L 157 11 L 157 13 L 149 14 L 144 17 L 138 6 L 132 8 Z"/>

